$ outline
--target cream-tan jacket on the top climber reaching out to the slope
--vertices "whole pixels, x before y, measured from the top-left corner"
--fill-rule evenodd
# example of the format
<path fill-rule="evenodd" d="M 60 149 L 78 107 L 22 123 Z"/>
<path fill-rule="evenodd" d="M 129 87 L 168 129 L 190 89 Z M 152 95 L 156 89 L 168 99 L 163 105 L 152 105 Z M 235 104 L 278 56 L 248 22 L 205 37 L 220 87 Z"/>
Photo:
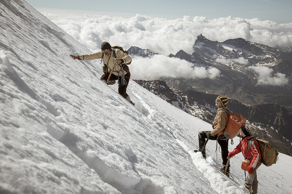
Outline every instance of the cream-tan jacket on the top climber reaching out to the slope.
<path fill-rule="evenodd" d="M 131 62 L 131 57 L 129 55 L 127 55 L 126 53 L 124 53 L 123 51 L 121 51 L 120 49 L 116 48 L 112 48 L 112 51 L 110 53 L 109 56 L 104 55 L 103 56 L 103 60 L 105 61 L 105 64 L 107 64 L 107 67 L 112 70 L 112 68 L 114 67 L 115 61 L 113 59 L 114 57 L 114 50 L 116 53 L 116 57 L 121 59 L 123 67 L 124 65 L 126 65 L 125 63 L 130 63 Z M 98 51 L 96 53 L 91 53 L 91 54 L 84 54 L 84 55 L 79 55 L 80 60 L 93 60 L 93 59 L 100 59 L 102 56 L 102 51 Z M 127 65 L 126 65 L 127 66 Z M 128 67 L 128 66 L 127 66 Z M 119 75 L 121 76 L 121 64 L 117 64 L 117 66 L 114 68 L 114 71 L 112 72 L 112 74 L 114 75 Z M 123 74 L 125 75 L 126 73 L 128 73 L 129 68 L 123 68 Z M 126 70 L 126 71 L 125 71 Z"/>

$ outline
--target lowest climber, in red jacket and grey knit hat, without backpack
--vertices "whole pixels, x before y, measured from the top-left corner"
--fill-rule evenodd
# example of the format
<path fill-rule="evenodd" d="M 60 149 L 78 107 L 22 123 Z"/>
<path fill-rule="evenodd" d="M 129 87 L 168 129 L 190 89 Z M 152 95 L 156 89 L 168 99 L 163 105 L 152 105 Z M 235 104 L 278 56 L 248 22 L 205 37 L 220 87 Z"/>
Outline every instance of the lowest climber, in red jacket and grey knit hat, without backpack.
<path fill-rule="evenodd" d="M 256 128 L 242 125 L 240 127 L 240 135 L 242 136 L 242 139 L 236 148 L 232 152 L 228 153 L 228 157 L 230 158 L 241 152 L 244 156 L 244 159 L 250 161 L 250 164 L 247 167 L 248 176 L 244 186 L 249 190 L 250 193 L 252 192 L 252 194 L 258 193 L 258 179 L 256 170 L 262 164 L 261 160 L 263 160 L 258 142 L 253 137 L 255 131 Z"/>

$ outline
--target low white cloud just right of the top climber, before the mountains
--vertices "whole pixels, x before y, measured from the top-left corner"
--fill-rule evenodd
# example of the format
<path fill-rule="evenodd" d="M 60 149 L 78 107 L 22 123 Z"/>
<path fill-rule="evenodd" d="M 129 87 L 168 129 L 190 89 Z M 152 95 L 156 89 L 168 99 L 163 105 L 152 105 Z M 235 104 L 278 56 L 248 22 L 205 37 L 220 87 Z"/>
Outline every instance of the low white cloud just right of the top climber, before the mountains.
<path fill-rule="evenodd" d="M 193 67 L 194 64 L 179 58 L 155 55 L 151 58 L 134 57 L 131 63 L 131 78 L 159 79 L 173 78 L 215 78 L 220 71 L 214 67 Z"/>

